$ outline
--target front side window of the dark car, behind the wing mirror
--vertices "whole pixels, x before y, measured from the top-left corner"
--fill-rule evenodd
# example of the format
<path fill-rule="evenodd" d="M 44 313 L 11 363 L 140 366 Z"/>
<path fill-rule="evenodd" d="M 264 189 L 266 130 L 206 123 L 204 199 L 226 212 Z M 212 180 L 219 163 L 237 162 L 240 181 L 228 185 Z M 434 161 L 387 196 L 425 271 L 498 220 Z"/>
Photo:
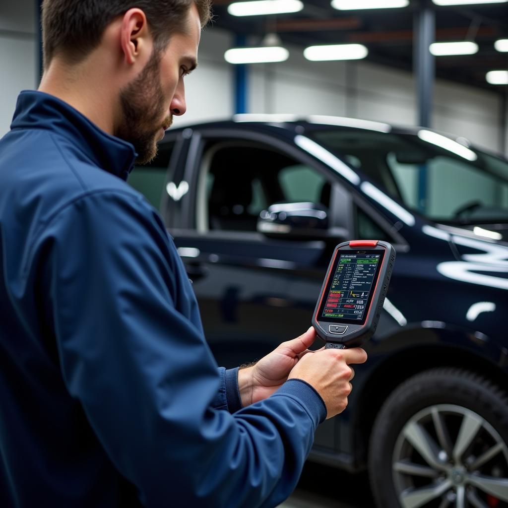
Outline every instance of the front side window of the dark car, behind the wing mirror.
<path fill-rule="evenodd" d="M 200 231 L 256 231 L 260 212 L 274 203 L 329 205 L 330 184 L 321 173 L 268 146 L 222 141 L 205 148 L 203 161 Z"/>

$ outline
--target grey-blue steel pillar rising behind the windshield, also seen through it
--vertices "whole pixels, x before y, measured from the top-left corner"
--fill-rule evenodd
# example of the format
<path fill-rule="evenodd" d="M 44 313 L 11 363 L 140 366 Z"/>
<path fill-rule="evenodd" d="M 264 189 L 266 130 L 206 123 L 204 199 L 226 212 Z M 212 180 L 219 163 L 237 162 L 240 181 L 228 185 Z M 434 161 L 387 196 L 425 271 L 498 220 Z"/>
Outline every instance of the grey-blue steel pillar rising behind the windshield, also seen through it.
<path fill-rule="evenodd" d="M 435 12 L 427 2 L 421 2 L 415 12 L 413 61 L 417 85 L 418 124 L 422 127 L 432 125 L 432 99 L 434 96 L 435 59 L 430 45 L 435 40 Z M 425 212 L 428 206 L 427 165 L 421 165 L 418 172 L 418 207 Z"/>

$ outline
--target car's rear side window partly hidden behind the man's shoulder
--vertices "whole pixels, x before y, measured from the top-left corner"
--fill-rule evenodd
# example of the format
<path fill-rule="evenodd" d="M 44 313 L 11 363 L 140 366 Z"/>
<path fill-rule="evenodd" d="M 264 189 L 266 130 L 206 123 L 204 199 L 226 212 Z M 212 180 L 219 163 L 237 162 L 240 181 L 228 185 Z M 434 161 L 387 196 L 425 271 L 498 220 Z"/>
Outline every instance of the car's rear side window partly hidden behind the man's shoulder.
<path fill-rule="evenodd" d="M 129 175 L 128 183 L 145 196 L 158 210 L 161 206 L 162 193 L 167 181 L 167 171 L 174 142 L 159 146 L 153 161 L 143 166 L 135 166 Z"/>

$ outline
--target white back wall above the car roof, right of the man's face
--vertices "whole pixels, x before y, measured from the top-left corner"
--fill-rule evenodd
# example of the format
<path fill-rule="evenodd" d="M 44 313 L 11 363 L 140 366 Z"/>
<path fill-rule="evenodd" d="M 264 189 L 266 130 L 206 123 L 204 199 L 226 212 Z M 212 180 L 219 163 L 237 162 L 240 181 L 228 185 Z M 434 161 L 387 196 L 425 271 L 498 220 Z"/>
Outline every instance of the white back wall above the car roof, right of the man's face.
<path fill-rule="evenodd" d="M 187 114 L 178 119 L 180 125 L 215 119 L 217 115 L 225 118 L 233 112 L 233 97 L 229 95 L 234 91 L 233 71 L 223 59 L 224 51 L 232 45 L 233 38 L 220 29 L 209 28 L 203 35 L 200 68 L 187 78 L 192 88 L 187 87 Z M 289 49 L 286 62 L 250 66 L 249 112 L 353 116 L 398 125 L 418 122 L 416 85 L 411 73 L 365 61 L 309 62 L 302 48 Z M 501 115 L 498 94 L 437 80 L 434 129 L 500 151 Z"/>

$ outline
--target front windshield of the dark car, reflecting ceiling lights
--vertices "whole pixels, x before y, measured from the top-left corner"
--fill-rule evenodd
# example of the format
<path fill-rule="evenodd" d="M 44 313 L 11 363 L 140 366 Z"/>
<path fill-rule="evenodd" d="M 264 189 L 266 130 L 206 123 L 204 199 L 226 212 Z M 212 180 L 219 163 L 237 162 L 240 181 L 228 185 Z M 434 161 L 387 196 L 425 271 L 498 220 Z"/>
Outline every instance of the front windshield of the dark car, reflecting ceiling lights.
<path fill-rule="evenodd" d="M 446 224 L 508 223 L 508 162 L 427 130 L 316 128 L 309 136 L 407 208 Z"/>

